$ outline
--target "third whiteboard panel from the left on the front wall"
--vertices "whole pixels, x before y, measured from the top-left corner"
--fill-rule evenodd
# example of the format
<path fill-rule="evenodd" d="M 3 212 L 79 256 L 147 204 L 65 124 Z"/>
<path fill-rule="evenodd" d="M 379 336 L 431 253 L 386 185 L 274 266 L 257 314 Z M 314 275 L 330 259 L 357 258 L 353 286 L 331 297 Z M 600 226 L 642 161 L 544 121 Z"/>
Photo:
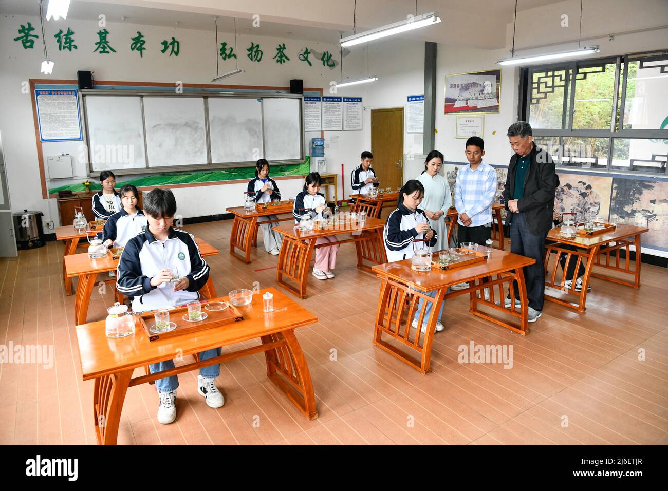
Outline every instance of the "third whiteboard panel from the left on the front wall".
<path fill-rule="evenodd" d="M 263 158 L 261 101 L 208 98 L 211 162 L 255 162 Z"/>

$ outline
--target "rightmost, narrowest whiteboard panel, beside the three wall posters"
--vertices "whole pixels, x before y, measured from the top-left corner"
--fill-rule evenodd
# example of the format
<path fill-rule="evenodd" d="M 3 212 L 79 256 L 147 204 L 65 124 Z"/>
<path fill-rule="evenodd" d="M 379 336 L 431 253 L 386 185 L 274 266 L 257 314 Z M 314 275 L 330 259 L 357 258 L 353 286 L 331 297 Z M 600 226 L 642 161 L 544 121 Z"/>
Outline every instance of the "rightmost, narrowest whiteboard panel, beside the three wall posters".
<path fill-rule="evenodd" d="M 265 158 L 301 158 L 301 99 L 264 98 Z"/>

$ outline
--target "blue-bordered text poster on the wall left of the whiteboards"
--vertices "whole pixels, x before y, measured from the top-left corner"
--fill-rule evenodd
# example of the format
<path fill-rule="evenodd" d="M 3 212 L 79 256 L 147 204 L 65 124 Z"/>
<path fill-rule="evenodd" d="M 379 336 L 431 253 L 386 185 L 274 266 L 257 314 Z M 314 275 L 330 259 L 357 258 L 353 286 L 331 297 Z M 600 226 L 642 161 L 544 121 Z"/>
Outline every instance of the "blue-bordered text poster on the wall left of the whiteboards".
<path fill-rule="evenodd" d="M 76 90 L 35 90 L 39 140 L 81 140 L 79 94 Z"/>

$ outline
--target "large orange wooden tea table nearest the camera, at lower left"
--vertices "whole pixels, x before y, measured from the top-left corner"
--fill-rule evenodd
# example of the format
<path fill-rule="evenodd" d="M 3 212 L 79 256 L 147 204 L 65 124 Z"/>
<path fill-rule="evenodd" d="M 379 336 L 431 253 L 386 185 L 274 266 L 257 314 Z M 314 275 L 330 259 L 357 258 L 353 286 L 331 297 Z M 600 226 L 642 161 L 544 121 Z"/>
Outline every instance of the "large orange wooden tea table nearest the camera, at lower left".
<path fill-rule="evenodd" d="M 274 295 L 275 311 L 272 313 L 263 312 L 262 295 L 265 291 Z M 228 297 L 214 300 L 228 301 Z M 95 379 L 93 412 L 98 444 L 116 445 L 118 424 L 128 387 L 262 352 L 265 353 L 269 379 L 299 407 L 304 416 L 309 420 L 317 418 L 311 373 L 295 337 L 295 329 L 316 323 L 318 318 L 273 288 L 255 293 L 249 305 L 237 308 L 244 316 L 240 322 L 216 329 L 203 329 L 197 335 L 191 333 L 153 342 L 148 341 L 139 317 L 134 335 L 124 339 L 106 337 L 105 321 L 77 325 L 83 380 Z M 261 345 L 231 353 L 223 352 L 215 358 L 158 373 L 132 376 L 134 369 L 150 363 L 174 359 L 179 355 L 196 355 L 206 349 L 258 338 L 262 341 Z"/>

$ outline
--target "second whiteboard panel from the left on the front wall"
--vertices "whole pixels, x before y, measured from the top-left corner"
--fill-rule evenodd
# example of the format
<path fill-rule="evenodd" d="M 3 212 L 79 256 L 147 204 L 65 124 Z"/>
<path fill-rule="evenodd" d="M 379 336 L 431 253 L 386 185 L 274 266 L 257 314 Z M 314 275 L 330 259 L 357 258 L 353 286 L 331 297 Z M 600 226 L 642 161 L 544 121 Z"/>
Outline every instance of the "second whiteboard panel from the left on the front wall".
<path fill-rule="evenodd" d="M 144 96 L 149 167 L 206 165 L 204 98 Z"/>

